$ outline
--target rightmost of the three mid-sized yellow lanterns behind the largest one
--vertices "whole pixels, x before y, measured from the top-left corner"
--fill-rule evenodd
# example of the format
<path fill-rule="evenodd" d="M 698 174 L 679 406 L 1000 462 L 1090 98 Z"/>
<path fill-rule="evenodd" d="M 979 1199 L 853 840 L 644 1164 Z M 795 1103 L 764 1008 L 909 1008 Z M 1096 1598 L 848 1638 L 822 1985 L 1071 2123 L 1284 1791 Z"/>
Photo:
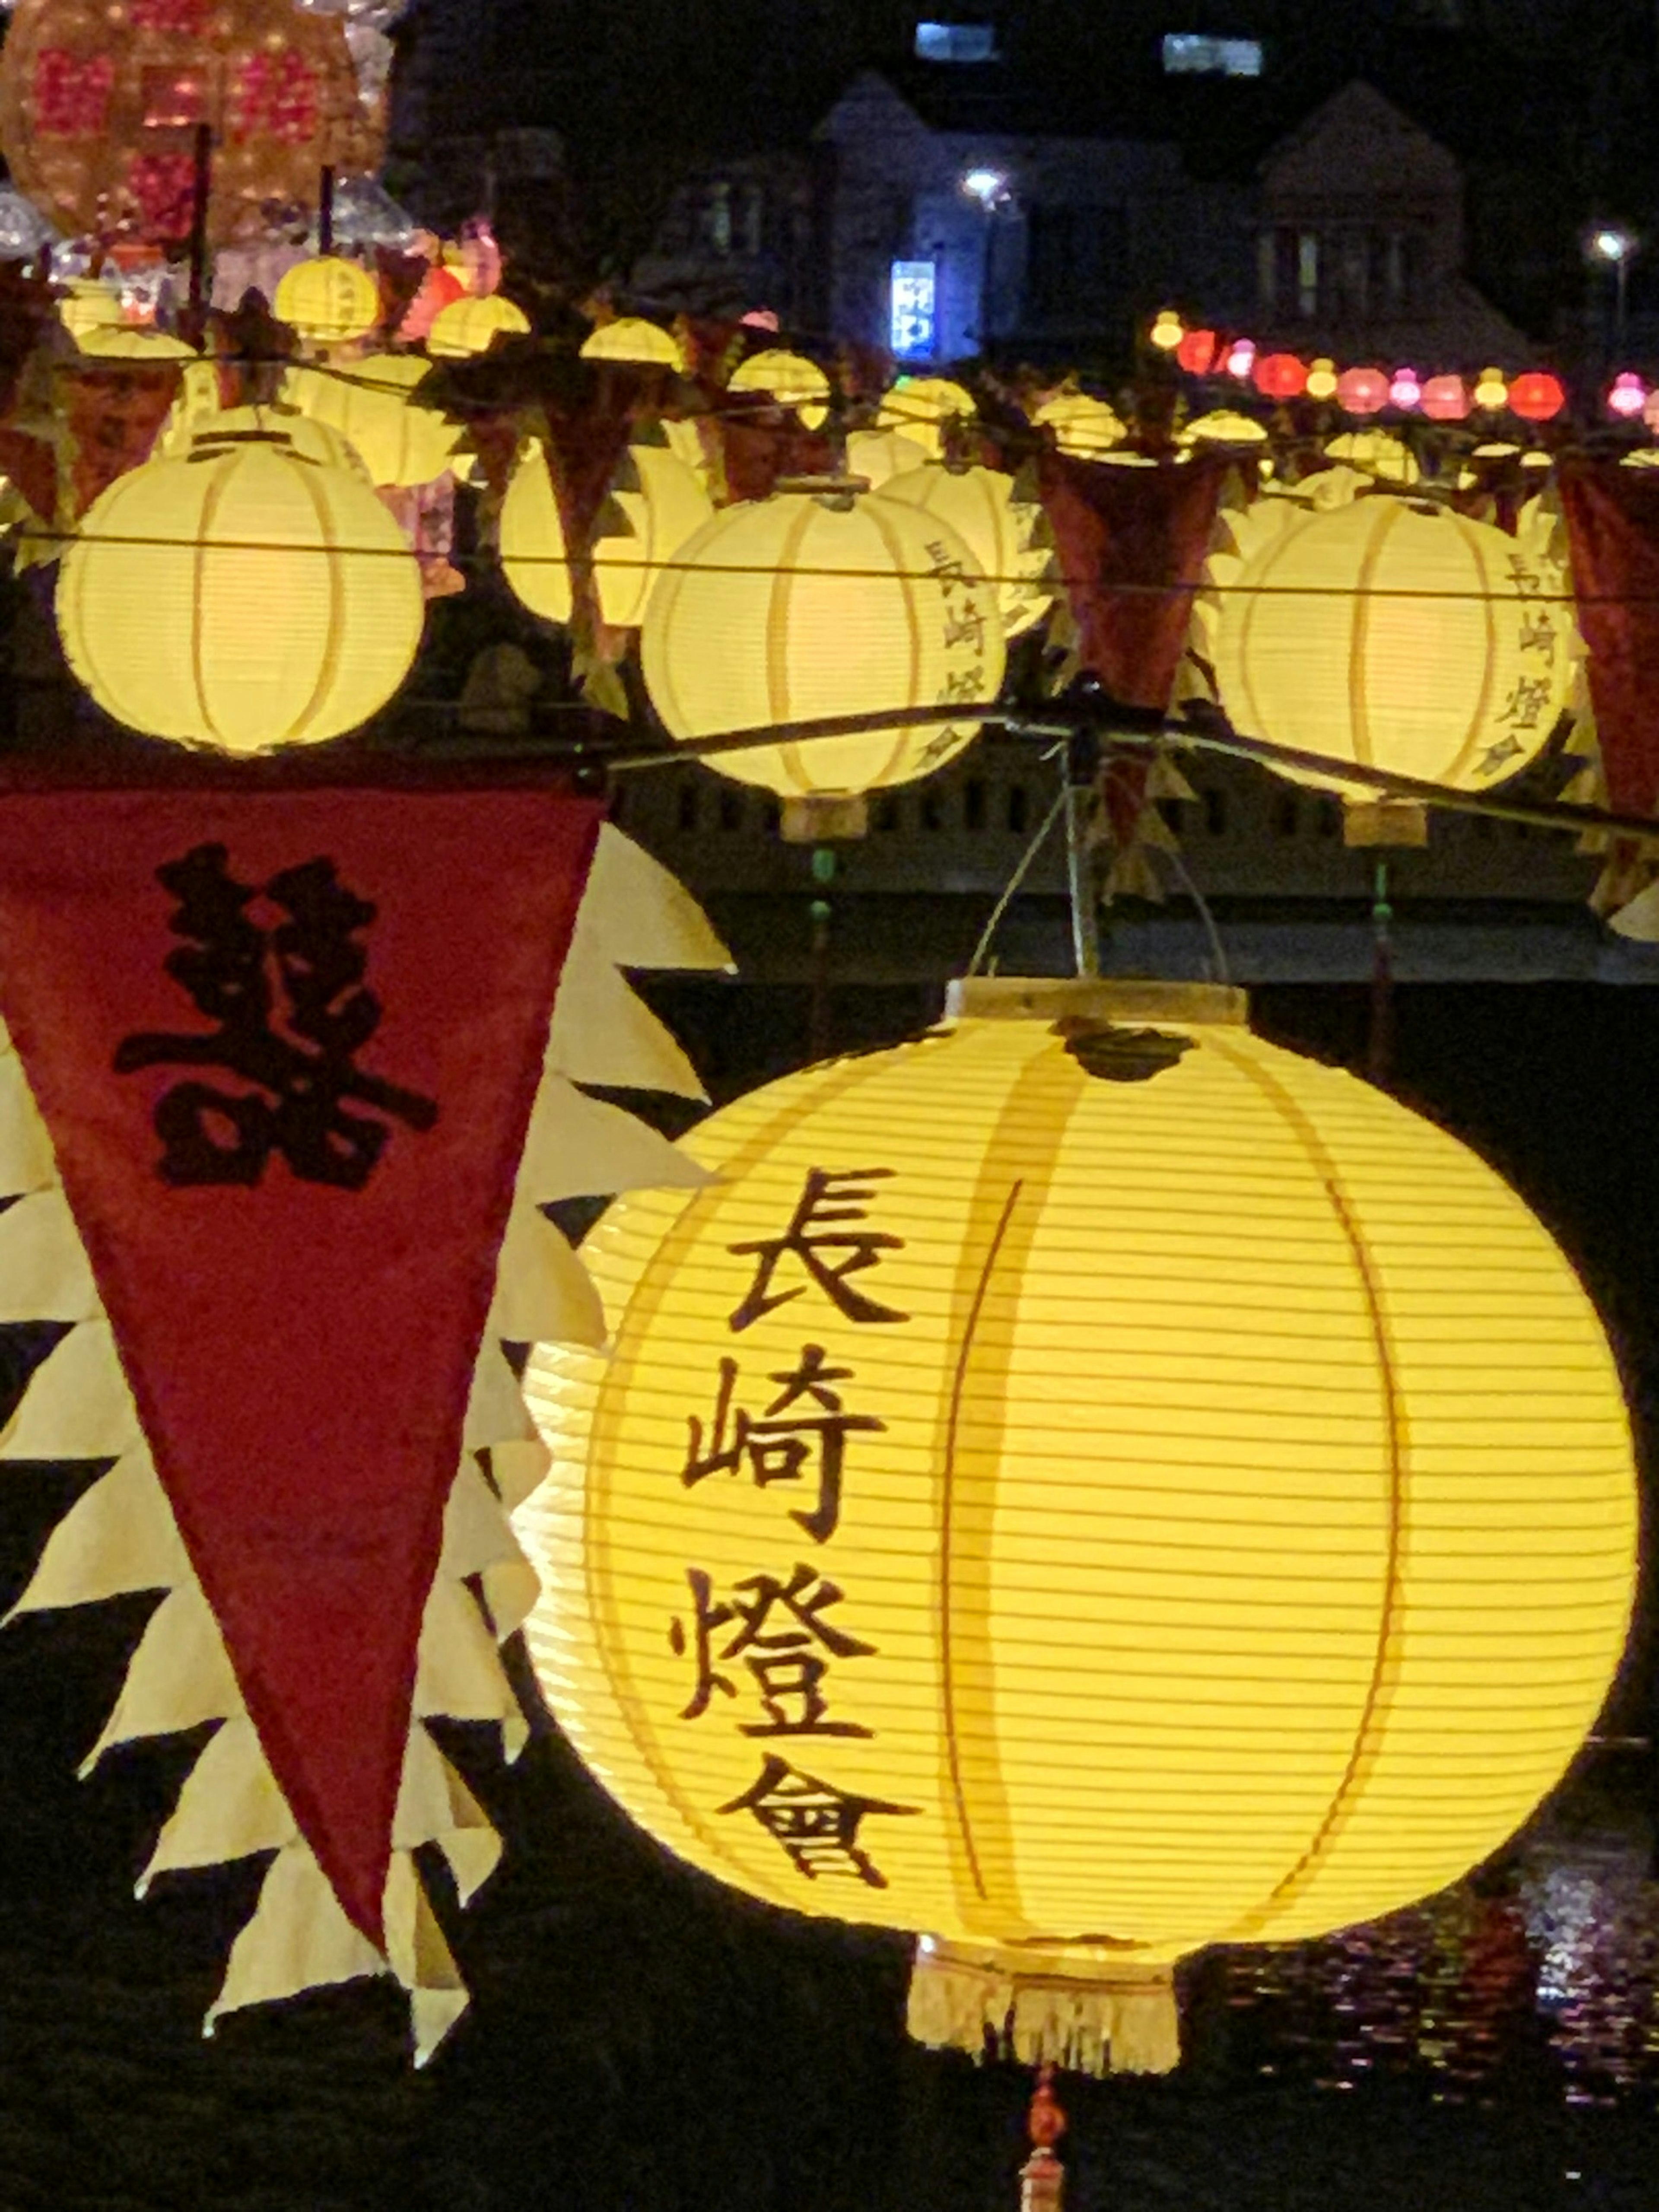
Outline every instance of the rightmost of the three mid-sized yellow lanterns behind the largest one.
<path fill-rule="evenodd" d="M 1573 695 L 1568 582 L 1537 507 L 1511 538 L 1389 493 L 1314 513 L 1261 500 L 1210 582 L 1199 624 L 1223 708 L 1334 768 L 1491 790 L 1548 743 Z"/>

